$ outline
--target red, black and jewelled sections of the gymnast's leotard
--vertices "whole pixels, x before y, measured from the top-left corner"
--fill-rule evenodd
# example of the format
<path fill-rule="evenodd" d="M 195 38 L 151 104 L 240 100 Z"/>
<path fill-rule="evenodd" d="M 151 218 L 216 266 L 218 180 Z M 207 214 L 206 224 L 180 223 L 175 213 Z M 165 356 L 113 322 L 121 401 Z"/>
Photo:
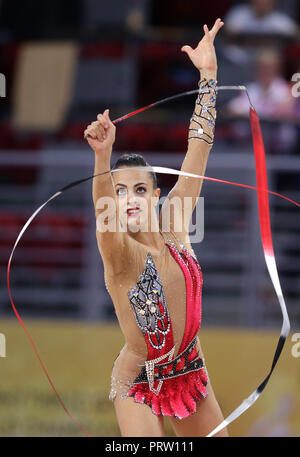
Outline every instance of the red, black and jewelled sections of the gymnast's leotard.
<path fill-rule="evenodd" d="M 186 319 L 184 335 L 174 362 L 172 322 L 162 280 L 148 252 L 145 269 L 135 287 L 128 291 L 131 308 L 144 335 L 148 356 L 139 375 L 128 383 L 122 398 L 133 397 L 145 403 L 156 415 L 180 419 L 196 411 L 196 402 L 206 397 L 208 374 L 204 359 L 196 346 L 201 325 L 202 271 L 197 259 L 181 244 L 179 251 L 169 239 L 165 243 L 184 275 L 186 287 Z M 155 361 L 151 366 L 151 361 Z M 115 378 L 113 379 L 115 381 Z M 115 387 L 113 387 L 115 384 Z M 117 393 L 112 383 L 110 398 Z"/>

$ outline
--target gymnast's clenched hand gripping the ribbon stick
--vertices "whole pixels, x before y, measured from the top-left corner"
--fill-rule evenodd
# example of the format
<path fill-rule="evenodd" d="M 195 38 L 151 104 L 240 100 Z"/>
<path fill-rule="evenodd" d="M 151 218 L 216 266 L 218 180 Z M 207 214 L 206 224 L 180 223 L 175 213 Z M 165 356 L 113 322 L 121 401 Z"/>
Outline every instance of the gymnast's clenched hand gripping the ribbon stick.
<path fill-rule="evenodd" d="M 91 148 L 100 153 L 112 147 L 116 138 L 116 127 L 109 118 L 109 109 L 98 114 L 97 121 L 92 122 L 84 131 Z"/>

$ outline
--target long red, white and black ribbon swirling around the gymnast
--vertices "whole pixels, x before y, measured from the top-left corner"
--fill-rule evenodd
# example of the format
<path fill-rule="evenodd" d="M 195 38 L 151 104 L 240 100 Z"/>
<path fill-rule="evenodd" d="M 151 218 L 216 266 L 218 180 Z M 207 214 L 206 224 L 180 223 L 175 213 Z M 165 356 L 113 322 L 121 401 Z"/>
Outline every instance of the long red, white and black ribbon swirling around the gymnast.
<path fill-rule="evenodd" d="M 210 178 L 210 177 L 207 177 L 207 176 L 201 176 L 201 175 L 197 175 L 197 174 L 194 174 L 194 173 L 187 173 L 187 172 L 183 172 L 181 170 L 175 170 L 173 168 L 166 168 L 166 167 L 156 167 L 156 166 L 153 166 L 153 167 L 149 167 L 149 166 L 146 166 L 146 167 L 130 167 L 130 169 L 138 169 L 138 170 L 141 170 L 141 169 L 144 169 L 145 171 L 154 171 L 156 173 L 162 173 L 162 174 L 175 174 L 175 175 L 183 175 L 183 176 L 188 176 L 188 177 L 194 177 L 194 178 L 198 178 L 198 179 L 206 179 L 206 180 L 210 180 L 210 181 L 215 181 L 215 182 L 220 182 L 220 183 L 224 183 L 224 184 L 230 184 L 230 185 L 234 185 L 234 186 L 239 186 L 239 187 L 245 187 L 245 188 L 249 188 L 249 189 L 254 189 L 254 190 L 257 190 L 257 197 L 258 197 L 258 210 L 259 210 L 259 224 L 260 224 L 260 233 L 261 233 L 261 240 L 262 240 L 262 246 L 263 246 L 263 251 L 264 251 L 264 256 L 265 256 L 265 261 L 266 261 L 266 265 L 267 265 L 267 268 L 268 268 L 268 271 L 269 271 L 269 275 L 270 275 L 270 278 L 271 278 L 271 281 L 272 281 L 272 284 L 274 286 L 274 289 L 275 289 L 275 292 L 276 292 L 276 295 L 278 297 L 278 300 L 279 300 L 279 303 L 280 303 L 280 307 L 281 307 L 281 311 L 282 311 L 282 315 L 283 315 L 283 321 L 282 321 L 282 328 L 281 328 L 281 332 L 280 332 L 280 337 L 279 337 L 279 340 L 278 340 L 278 344 L 277 344 L 277 347 L 276 347 L 276 351 L 275 351 L 275 354 L 274 354 L 274 357 L 273 357 L 273 362 L 272 362 L 272 366 L 271 366 L 271 369 L 268 373 L 268 375 L 265 377 L 265 379 L 261 382 L 261 384 L 257 387 L 257 389 L 249 396 L 247 397 L 226 419 L 224 419 L 224 421 L 219 424 L 214 430 L 212 430 L 207 436 L 208 437 L 211 437 L 213 435 L 215 435 L 218 431 L 222 430 L 224 427 L 226 427 L 228 424 L 230 424 L 231 422 L 233 422 L 235 419 L 237 419 L 241 414 L 243 414 L 250 406 L 253 405 L 253 403 L 255 403 L 255 401 L 258 399 L 258 397 L 261 395 L 262 391 L 264 390 L 264 388 L 266 387 L 268 381 L 269 381 L 269 378 L 278 362 L 278 359 L 280 357 L 280 354 L 281 354 L 281 351 L 283 349 L 283 346 L 284 346 L 284 343 L 286 341 L 286 338 L 290 332 L 290 321 L 289 321 L 289 317 L 288 317 L 288 313 L 287 313 L 287 308 L 286 308 L 286 305 L 285 305 L 285 300 L 284 300 L 284 297 L 283 297 L 283 293 L 282 293 L 282 290 L 281 290 L 281 286 L 280 286 L 280 281 L 279 281 L 279 276 L 278 276 L 278 272 L 277 272 L 277 266 L 276 266 L 276 261 L 275 261 L 275 254 L 274 254 L 274 249 L 273 249 L 273 242 L 272 242 L 272 233 L 271 233 L 271 225 L 270 225 L 270 209 L 269 209 L 269 200 L 268 200 L 268 193 L 271 193 L 273 195 L 276 195 L 278 197 L 281 197 L 281 198 L 284 198 L 288 201 L 290 201 L 291 203 L 293 203 L 294 205 L 296 206 L 300 206 L 300 203 L 292 200 L 291 198 L 288 198 L 284 195 L 281 195 L 279 193 L 276 193 L 276 192 L 272 192 L 270 190 L 268 190 L 268 185 L 267 185 L 267 171 L 266 171 L 266 159 L 265 159 L 265 150 L 264 150 L 264 143 L 263 143 L 263 137 L 262 137 L 262 133 L 261 133 L 261 127 L 260 127 L 260 122 L 259 122 L 259 117 L 253 107 L 253 105 L 251 104 L 251 101 L 250 101 L 250 98 L 249 98 L 249 94 L 248 94 L 248 91 L 247 91 L 247 88 L 245 86 L 218 86 L 216 87 L 217 90 L 245 90 L 246 91 L 246 94 L 248 96 L 248 99 L 249 99 L 249 103 L 250 103 L 250 123 L 251 123 L 251 131 L 252 131 L 252 139 L 253 139 L 253 147 L 254 147 L 254 153 L 255 153 L 255 167 L 256 167 L 256 181 L 257 181 L 257 187 L 254 187 L 254 186 L 249 186 L 249 185 L 246 185 L 246 184 L 242 184 L 242 183 L 236 183 L 236 182 L 231 182 L 231 181 L 225 181 L 225 180 L 222 180 L 222 179 L 216 179 L 216 178 Z M 205 90 L 203 90 L 202 92 L 207 92 Z M 157 106 L 159 104 L 162 104 L 162 103 L 166 103 L 170 100 L 173 100 L 173 99 L 176 99 L 176 98 L 179 98 L 179 97 L 183 97 L 185 95 L 190 95 L 190 94 L 194 94 L 194 93 L 199 93 L 199 89 L 196 89 L 196 90 L 192 90 L 192 91 L 188 91 L 188 92 L 183 92 L 183 93 L 180 93 L 180 94 L 177 94 L 177 95 L 174 95 L 174 96 L 171 96 L 171 97 L 168 97 L 168 98 L 165 98 L 163 100 L 159 100 L 155 103 L 151 103 L 150 105 L 147 105 L 143 108 L 140 108 L 136 111 L 133 111 L 131 113 L 128 113 L 126 114 L 125 116 L 122 116 L 116 120 L 113 121 L 114 124 L 117 124 L 131 116 L 134 116 L 135 114 L 138 114 L 142 111 L 145 111 L 149 108 L 152 108 L 154 106 Z M 88 181 L 96 176 L 99 176 L 99 175 L 103 175 L 103 174 L 106 174 L 106 173 L 112 173 L 112 172 L 115 172 L 115 171 L 119 171 L 119 170 L 124 170 L 125 168 L 122 167 L 121 169 L 114 169 L 114 170 L 108 170 L 106 172 L 103 172 L 103 173 L 99 173 L 97 175 L 92 175 L 92 176 L 89 176 L 87 178 L 83 178 L 83 179 L 80 179 L 78 181 L 74 181 L 66 186 L 64 186 L 62 189 L 60 189 L 59 191 L 57 191 L 55 194 L 53 194 L 46 202 L 44 202 L 31 216 L 30 218 L 27 220 L 27 222 L 24 224 L 23 228 L 21 229 L 18 237 L 17 237 L 17 240 L 14 244 L 14 247 L 12 249 L 12 252 L 10 254 L 10 257 L 9 257 L 9 260 L 8 260 L 8 266 L 7 266 L 7 287 L 8 287 L 8 293 L 9 293 L 9 298 L 10 298 L 10 301 L 11 301 L 11 304 L 12 304 L 12 308 L 13 308 L 13 311 L 18 319 L 18 321 L 20 322 L 21 326 L 23 327 L 24 331 L 26 332 L 29 340 L 30 340 L 30 343 L 36 353 L 36 356 L 41 364 L 41 367 L 54 391 L 54 393 L 56 394 L 60 404 L 62 405 L 63 409 L 65 410 L 65 412 L 68 414 L 68 416 L 70 417 L 70 419 L 80 428 L 80 430 L 83 432 L 83 434 L 85 434 L 86 436 L 90 437 L 91 435 L 78 423 L 78 421 L 70 414 L 70 412 L 68 411 L 67 407 L 65 406 L 64 402 L 62 401 L 59 393 L 57 392 L 47 370 L 46 370 L 46 367 L 44 365 L 44 363 L 42 362 L 42 359 L 38 353 L 38 350 L 36 348 L 36 345 L 34 343 L 34 341 L 32 340 L 31 336 L 30 336 L 30 333 L 29 331 L 27 330 L 27 328 L 25 327 L 16 307 L 15 307 L 15 304 L 13 302 L 13 299 L 12 299 L 12 294 L 11 294 L 11 288 L 10 288 L 10 269 L 11 269 L 11 262 L 12 262 L 12 257 L 13 257 L 13 254 L 14 254 L 14 251 L 22 237 L 22 235 L 24 234 L 25 230 L 27 229 L 27 227 L 29 226 L 29 224 L 32 222 L 32 220 L 36 217 L 36 215 L 51 201 L 53 200 L 54 198 L 58 197 L 59 195 L 61 195 L 63 192 L 65 192 L 66 190 L 68 189 L 71 189 L 72 187 L 74 186 L 77 186 L 85 181 Z"/>

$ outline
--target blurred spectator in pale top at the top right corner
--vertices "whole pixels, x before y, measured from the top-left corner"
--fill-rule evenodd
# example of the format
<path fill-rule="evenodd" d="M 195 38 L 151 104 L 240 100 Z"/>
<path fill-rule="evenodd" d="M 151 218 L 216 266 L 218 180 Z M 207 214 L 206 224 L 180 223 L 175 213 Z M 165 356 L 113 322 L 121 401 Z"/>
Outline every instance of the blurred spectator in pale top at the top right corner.
<path fill-rule="evenodd" d="M 296 36 L 297 23 L 276 10 L 277 0 L 249 0 L 246 5 L 234 6 L 225 16 L 229 34 Z"/>

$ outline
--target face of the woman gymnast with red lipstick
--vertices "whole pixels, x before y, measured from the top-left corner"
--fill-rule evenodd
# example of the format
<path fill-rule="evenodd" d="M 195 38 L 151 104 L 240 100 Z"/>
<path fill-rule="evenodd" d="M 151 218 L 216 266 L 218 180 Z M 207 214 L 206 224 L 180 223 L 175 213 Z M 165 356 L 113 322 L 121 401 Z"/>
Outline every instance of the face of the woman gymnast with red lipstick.
<path fill-rule="evenodd" d="M 151 220 L 157 217 L 155 206 L 160 195 L 160 189 L 153 187 L 150 173 L 126 169 L 116 171 L 112 176 L 122 227 L 135 233 L 150 231 Z"/>

